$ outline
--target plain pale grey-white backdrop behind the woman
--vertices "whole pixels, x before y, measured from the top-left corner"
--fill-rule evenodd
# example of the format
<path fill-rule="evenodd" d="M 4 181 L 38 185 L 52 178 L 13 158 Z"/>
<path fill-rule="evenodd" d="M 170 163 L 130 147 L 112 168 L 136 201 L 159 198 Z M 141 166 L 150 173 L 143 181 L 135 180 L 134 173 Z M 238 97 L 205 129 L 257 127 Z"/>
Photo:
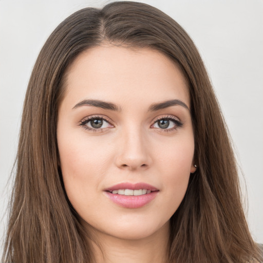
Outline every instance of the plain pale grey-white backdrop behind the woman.
<path fill-rule="evenodd" d="M 49 34 L 68 15 L 109 2 L 0 0 L 0 236 L 7 222 L 11 192 L 7 181 L 16 154 L 23 100 L 36 57 Z M 172 16 L 196 43 L 235 145 L 249 227 L 254 239 L 263 243 L 263 1 L 141 2 Z"/>

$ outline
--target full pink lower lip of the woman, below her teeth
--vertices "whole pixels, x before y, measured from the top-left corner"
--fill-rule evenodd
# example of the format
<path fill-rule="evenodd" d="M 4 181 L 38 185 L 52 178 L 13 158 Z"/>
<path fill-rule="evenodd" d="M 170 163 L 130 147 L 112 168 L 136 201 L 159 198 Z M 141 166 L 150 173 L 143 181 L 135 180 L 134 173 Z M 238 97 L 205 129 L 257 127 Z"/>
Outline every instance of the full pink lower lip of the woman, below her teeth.
<path fill-rule="evenodd" d="M 142 206 L 154 200 L 159 191 L 154 191 L 149 194 L 137 196 L 111 194 L 110 192 L 104 193 L 112 202 L 117 203 L 124 208 L 141 208 Z"/>

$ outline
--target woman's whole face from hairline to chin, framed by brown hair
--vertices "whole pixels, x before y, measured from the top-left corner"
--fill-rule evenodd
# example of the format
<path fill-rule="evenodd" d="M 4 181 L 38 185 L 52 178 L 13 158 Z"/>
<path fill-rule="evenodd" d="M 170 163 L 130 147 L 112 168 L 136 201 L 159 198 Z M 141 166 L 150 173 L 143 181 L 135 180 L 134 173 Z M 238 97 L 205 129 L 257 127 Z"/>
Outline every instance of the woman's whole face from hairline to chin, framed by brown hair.
<path fill-rule="evenodd" d="M 186 81 L 151 49 L 89 49 L 66 73 L 58 147 L 67 196 L 93 231 L 124 239 L 168 225 L 193 165 Z"/>

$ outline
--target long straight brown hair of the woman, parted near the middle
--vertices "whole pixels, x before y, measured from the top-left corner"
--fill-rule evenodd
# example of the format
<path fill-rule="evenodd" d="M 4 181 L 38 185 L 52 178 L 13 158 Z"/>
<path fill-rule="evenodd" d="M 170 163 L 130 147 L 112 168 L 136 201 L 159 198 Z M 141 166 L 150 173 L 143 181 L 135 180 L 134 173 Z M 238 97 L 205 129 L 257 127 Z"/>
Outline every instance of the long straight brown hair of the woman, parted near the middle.
<path fill-rule="evenodd" d="M 193 41 L 154 7 L 114 2 L 66 18 L 36 60 L 24 102 L 2 262 L 93 262 L 87 233 L 64 190 L 56 129 L 66 68 L 103 42 L 158 50 L 180 66 L 189 83 L 198 168 L 171 218 L 170 262 L 262 260 L 243 213 L 226 124 Z"/>

